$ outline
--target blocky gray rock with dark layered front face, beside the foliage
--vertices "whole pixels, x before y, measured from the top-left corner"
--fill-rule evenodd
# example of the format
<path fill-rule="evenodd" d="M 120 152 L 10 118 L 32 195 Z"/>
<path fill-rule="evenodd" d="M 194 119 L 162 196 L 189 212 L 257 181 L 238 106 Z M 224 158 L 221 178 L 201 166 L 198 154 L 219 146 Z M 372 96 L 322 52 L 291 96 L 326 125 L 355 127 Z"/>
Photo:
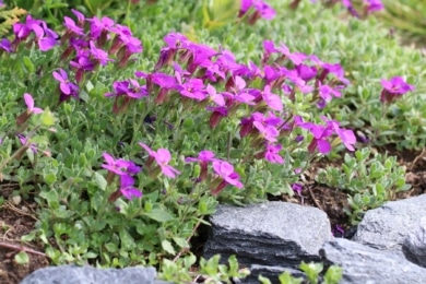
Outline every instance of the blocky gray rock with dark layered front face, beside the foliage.
<path fill-rule="evenodd" d="M 318 250 L 333 238 L 324 212 L 280 201 L 246 208 L 221 205 L 210 222 L 212 232 L 204 258 L 220 253 L 226 261 L 236 255 L 247 267 L 296 269 L 300 261 L 319 261 Z"/>

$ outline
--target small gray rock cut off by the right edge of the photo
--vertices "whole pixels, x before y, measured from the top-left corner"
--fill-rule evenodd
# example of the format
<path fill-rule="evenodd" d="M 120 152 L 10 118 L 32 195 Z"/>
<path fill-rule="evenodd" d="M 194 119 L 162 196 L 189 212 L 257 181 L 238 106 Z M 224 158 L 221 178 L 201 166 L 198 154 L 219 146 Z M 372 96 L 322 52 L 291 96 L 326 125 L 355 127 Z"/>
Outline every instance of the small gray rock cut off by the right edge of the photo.
<path fill-rule="evenodd" d="M 405 238 L 402 251 L 407 260 L 426 268 L 426 217 L 422 217 L 419 226 Z"/>

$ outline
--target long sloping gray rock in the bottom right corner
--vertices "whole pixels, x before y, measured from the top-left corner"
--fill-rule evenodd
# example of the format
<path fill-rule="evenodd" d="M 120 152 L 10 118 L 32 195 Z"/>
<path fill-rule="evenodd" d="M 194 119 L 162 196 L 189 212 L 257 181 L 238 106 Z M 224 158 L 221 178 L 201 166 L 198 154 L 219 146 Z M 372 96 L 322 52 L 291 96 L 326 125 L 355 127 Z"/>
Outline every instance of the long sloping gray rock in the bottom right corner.
<path fill-rule="evenodd" d="M 336 238 L 326 242 L 320 255 L 330 264 L 343 268 L 343 280 L 340 284 L 426 283 L 426 269 L 397 253 L 374 249 L 347 239 Z"/>

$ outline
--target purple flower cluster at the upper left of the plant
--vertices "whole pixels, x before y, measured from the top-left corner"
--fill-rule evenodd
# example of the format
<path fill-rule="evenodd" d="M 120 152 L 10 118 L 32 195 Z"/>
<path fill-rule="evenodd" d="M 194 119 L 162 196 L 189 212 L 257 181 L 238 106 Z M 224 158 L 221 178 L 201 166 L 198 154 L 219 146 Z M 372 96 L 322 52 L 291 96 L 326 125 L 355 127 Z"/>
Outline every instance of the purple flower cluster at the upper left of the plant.
<path fill-rule="evenodd" d="M 61 60 L 66 66 L 52 72 L 55 80 L 59 82 L 59 102 L 70 97 L 79 98 L 79 84 L 97 67 L 113 61 L 116 61 L 119 67 L 125 67 L 133 54 L 142 52 L 141 40 L 133 37 L 127 26 L 116 24 L 106 16 L 86 19 L 76 10 L 72 10 L 72 13 L 76 22 L 64 16 L 66 32 L 60 40 L 44 21 L 35 20 L 31 15 L 26 17 L 25 23 L 13 25 L 15 37 L 12 42 L 7 38 L 0 40 L 0 50 L 7 52 L 16 51 L 20 44 L 29 46 L 35 43 L 42 51 L 59 45 L 62 47 Z M 126 83 L 121 85 L 123 84 Z M 133 94 L 135 98 L 143 93 L 135 81 L 130 81 L 128 90 L 122 92 L 130 96 Z"/>

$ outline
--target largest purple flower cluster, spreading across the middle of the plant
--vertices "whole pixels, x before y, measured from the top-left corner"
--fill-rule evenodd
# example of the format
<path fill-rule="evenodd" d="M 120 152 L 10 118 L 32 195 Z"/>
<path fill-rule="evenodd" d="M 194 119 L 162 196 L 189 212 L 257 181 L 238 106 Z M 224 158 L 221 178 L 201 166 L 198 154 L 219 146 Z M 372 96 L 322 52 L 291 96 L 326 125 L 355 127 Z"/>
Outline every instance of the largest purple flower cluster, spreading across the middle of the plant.
<path fill-rule="evenodd" d="M 334 120 L 324 120 L 327 126 L 301 121 L 296 114 L 285 110 L 282 99 L 286 96 L 295 100 L 297 92 L 312 93 L 311 100 L 323 108 L 333 97 L 340 97 L 348 84 L 340 64 L 291 52 L 284 44 L 275 46 L 270 40 L 263 43 L 260 67 L 253 62 L 238 63 L 230 51 L 192 43 L 178 33 L 166 35 L 164 40 L 166 46 L 161 49 L 152 73 L 138 71 L 137 79 L 117 81 L 113 84 L 114 92 L 105 94 L 115 96 L 115 113 L 126 111 L 130 102 L 154 96 L 152 100 L 165 107 L 181 104 L 185 109 L 209 111 L 206 122 L 213 129 L 223 118 L 245 109 L 247 116 L 240 120 L 240 138 L 249 139 L 251 146 L 258 150 L 255 158 L 275 164 L 284 163 L 280 156 L 280 140 L 295 128 L 313 134 L 311 153 L 313 150 L 329 153 L 331 135 L 338 135 L 346 149 L 354 151 L 356 141 L 351 130 L 340 128 Z M 171 74 L 162 70 L 171 70 Z M 261 86 L 250 87 L 253 82 L 261 82 Z M 119 97 L 123 102 L 120 106 Z M 151 156 L 155 158 L 155 155 Z"/>

